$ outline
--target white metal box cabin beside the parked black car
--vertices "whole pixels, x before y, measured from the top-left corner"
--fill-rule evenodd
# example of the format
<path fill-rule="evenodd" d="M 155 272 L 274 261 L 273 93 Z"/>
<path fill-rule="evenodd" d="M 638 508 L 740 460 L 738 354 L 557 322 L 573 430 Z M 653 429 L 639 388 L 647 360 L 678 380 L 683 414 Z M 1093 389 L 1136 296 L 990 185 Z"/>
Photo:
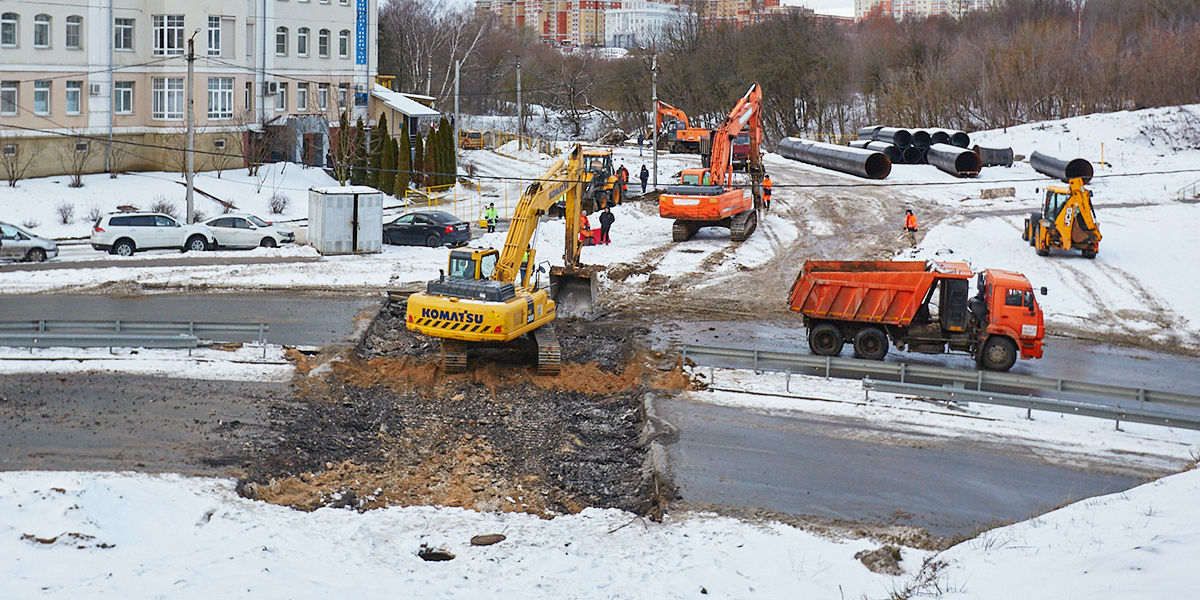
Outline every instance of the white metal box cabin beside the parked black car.
<path fill-rule="evenodd" d="M 308 244 L 322 254 L 383 251 L 383 192 L 367 186 L 308 190 Z"/>

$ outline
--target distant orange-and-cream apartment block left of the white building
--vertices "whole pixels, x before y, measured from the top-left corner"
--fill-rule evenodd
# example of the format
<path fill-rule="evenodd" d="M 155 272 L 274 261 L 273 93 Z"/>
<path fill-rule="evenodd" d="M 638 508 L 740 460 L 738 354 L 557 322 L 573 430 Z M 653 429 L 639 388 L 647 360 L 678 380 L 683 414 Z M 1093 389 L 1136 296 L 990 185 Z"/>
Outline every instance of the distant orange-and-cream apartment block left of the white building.
<path fill-rule="evenodd" d="M 605 12 L 622 0 L 475 0 L 476 13 L 496 14 L 510 28 L 529 28 L 542 42 L 604 46 Z"/>

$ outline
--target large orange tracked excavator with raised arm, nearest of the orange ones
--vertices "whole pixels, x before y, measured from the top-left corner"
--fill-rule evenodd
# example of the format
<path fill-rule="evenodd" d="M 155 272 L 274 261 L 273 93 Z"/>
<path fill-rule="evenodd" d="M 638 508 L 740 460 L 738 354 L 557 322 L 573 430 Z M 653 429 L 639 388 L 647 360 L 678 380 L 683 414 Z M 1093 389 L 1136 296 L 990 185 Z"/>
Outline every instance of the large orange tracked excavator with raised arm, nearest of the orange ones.
<path fill-rule="evenodd" d="M 703 168 L 684 169 L 679 182 L 659 197 L 659 216 L 676 220 L 674 241 L 690 240 L 701 227 L 727 227 L 730 239 L 745 241 L 758 226 L 762 208 L 762 124 L 758 119 L 762 88 L 758 84 L 738 100 L 725 124 L 713 132 L 712 154 Z M 733 143 L 746 130 L 750 137 L 748 172 L 750 190 L 733 185 Z"/>

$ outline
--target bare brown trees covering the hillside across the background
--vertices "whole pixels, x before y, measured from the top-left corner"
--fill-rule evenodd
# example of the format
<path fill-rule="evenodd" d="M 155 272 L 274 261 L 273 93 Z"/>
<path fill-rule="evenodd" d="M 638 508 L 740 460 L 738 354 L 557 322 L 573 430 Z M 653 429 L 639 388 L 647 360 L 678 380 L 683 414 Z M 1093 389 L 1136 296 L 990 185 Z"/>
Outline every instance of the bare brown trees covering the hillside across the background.
<path fill-rule="evenodd" d="M 562 137 L 588 134 L 594 118 L 630 134 L 652 124 L 655 58 L 659 98 L 701 125 L 719 125 L 762 84 L 768 139 L 871 124 L 976 131 L 1200 102 L 1195 0 L 997 0 L 959 18 L 876 13 L 852 25 L 796 11 L 740 29 L 692 11 L 614 60 L 432 5 L 380 8 L 380 72 L 448 107 L 462 61 L 464 112 L 515 115 L 520 59 L 524 103 L 560 114 L 544 131 Z"/>

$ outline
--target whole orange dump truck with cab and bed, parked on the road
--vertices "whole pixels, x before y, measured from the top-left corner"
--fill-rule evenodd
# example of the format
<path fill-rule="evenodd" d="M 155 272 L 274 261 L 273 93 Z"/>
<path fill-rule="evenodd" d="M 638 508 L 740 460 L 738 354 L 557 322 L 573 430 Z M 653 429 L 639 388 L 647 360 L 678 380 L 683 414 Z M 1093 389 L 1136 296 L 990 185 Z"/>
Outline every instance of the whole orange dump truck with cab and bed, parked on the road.
<path fill-rule="evenodd" d="M 991 371 L 1008 371 L 1018 355 L 1042 358 L 1030 281 L 989 269 L 968 298 L 972 276 L 965 263 L 806 260 L 787 301 L 804 316 L 809 348 L 824 356 L 850 342 L 856 356 L 882 360 L 890 338 L 901 350 L 970 353 Z"/>

